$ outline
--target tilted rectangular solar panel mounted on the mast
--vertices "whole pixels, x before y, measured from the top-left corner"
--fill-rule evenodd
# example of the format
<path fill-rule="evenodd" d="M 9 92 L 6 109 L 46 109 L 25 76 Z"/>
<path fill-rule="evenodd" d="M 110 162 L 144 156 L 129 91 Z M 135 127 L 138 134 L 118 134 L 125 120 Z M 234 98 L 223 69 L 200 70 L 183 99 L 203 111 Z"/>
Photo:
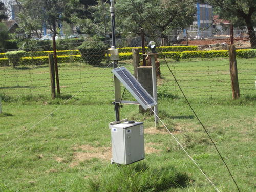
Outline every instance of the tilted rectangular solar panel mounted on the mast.
<path fill-rule="evenodd" d="M 112 72 L 145 110 L 157 105 L 157 102 L 125 67 L 115 68 Z"/>

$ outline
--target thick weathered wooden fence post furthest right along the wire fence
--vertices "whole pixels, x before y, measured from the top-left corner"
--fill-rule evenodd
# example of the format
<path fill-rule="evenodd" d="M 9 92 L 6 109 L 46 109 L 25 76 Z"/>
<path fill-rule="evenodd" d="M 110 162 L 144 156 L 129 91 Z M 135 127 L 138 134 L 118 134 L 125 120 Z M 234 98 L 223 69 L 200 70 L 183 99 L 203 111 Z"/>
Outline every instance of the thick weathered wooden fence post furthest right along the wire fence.
<path fill-rule="evenodd" d="M 229 70 L 230 70 L 230 77 L 231 77 L 231 88 L 233 93 L 233 100 L 236 100 L 240 97 L 236 47 L 234 45 L 228 46 L 228 52 L 229 52 Z"/>

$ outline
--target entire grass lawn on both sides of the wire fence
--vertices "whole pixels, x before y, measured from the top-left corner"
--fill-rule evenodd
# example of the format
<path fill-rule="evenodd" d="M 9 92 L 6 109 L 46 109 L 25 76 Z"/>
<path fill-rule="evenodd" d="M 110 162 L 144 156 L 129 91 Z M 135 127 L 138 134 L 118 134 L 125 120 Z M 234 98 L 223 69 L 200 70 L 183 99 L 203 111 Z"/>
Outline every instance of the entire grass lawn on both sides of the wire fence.
<path fill-rule="evenodd" d="M 246 73 L 252 74 L 249 69 L 253 68 L 251 63 L 255 59 L 239 61 L 247 63 L 245 65 L 250 67 L 246 67 L 248 68 Z M 205 68 L 201 69 L 198 66 L 205 62 L 200 62 L 201 64 L 194 63 L 197 65 L 196 70 L 207 74 L 207 70 L 203 70 Z M 209 66 L 215 65 L 216 68 L 220 65 L 217 61 L 208 63 Z M 202 92 L 189 95 L 191 87 L 195 87 L 195 91 L 199 89 L 196 88 L 197 86 L 210 89 L 209 84 L 206 83 L 215 81 L 202 84 L 185 83 L 185 80 L 191 79 L 189 73 L 185 72 L 191 71 L 189 68 L 191 63 L 187 60 L 182 64 L 185 66 L 184 76 L 183 79 L 179 77 L 178 80 L 181 80 L 181 86 L 188 95 L 191 105 L 216 142 L 240 191 L 254 191 L 256 101 L 253 94 L 255 95 L 255 84 L 253 84 L 254 90 L 251 89 L 251 83 L 249 84 L 251 87 L 245 87 L 249 90 L 243 92 L 245 95 L 237 101 L 230 99 L 230 90 L 225 96 L 213 87 L 205 95 Z M 121 63 L 121 65 L 132 69 L 129 63 Z M 172 63 L 172 65 L 174 67 L 178 64 Z M 79 68 L 87 71 L 79 74 L 76 65 L 60 67 L 60 71 L 61 69 L 67 71 L 64 73 L 65 70 L 62 70 L 62 75 L 73 75 L 66 80 L 66 85 L 62 85 L 67 86 L 62 88 L 63 96 L 54 101 L 48 96 L 50 88 L 47 87 L 44 91 L 43 87 L 34 86 L 33 83 L 37 81 L 30 82 L 29 89 L 22 88 L 19 93 L 26 96 L 19 98 L 16 98 L 19 88 L 11 90 L 9 87 L 12 85 L 8 84 L 7 80 L 2 82 L 4 86 L 1 87 L 1 91 L 6 94 L 2 95 L 4 113 L 0 115 L 0 191 L 215 191 L 172 136 L 163 127 L 159 129 L 153 127 L 154 117 L 139 114 L 138 106 L 135 105 L 124 105 L 120 112 L 121 118 L 144 122 L 146 158 L 127 166 L 111 165 L 111 138 L 108 123 L 114 121 L 114 108 L 111 104 L 113 88 L 111 87 L 112 79 L 109 79 L 111 78 L 110 69 L 104 70 L 105 74 L 97 76 L 95 80 L 98 73 L 90 74 L 95 71 L 88 71 L 88 68 L 78 65 Z M 220 191 L 236 191 L 236 186 L 206 133 L 180 96 L 177 87 L 172 84 L 167 86 L 170 81 L 166 79 L 171 77 L 164 66 L 161 69 L 163 78 L 159 82 L 159 95 L 162 96 L 159 99 L 160 118 Z M 5 71 L 7 75 L 7 70 L 12 69 L 5 68 L 1 72 Z M 22 77 L 22 73 L 28 73 L 26 70 L 28 71 L 28 69 L 16 70 L 15 73 L 18 71 L 20 73 L 18 77 Z M 42 83 L 48 83 L 47 67 L 29 70 L 33 71 L 30 75 L 33 74 L 32 76 L 37 79 L 45 78 L 41 80 Z M 44 70 L 45 73 L 43 73 Z M 75 74 L 78 74 L 77 78 L 84 75 L 84 79 L 87 80 L 81 81 L 81 78 L 76 80 Z M 212 74 L 210 77 L 216 77 L 216 75 Z M 10 78 L 13 78 L 13 81 L 21 87 L 27 86 L 23 84 L 23 78 L 19 80 L 15 77 Z M 31 77 L 28 78 L 31 80 Z M 66 78 L 68 79 L 68 76 Z M 205 78 L 208 79 L 209 76 Z M 252 76 L 248 79 L 252 79 Z M 78 86 L 79 81 L 85 83 L 90 80 L 95 85 L 88 83 L 88 86 L 98 87 L 95 88 L 98 91 L 106 89 L 108 92 L 103 91 L 103 96 L 96 97 L 94 94 L 97 95 L 98 92 L 95 91 L 90 96 L 88 89 L 83 88 L 84 92 L 80 92 L 70 102 L 60 106 L 60 103 L 63 103 L 70 94 L 78 90 L 78 88 L 69 87 L 67 83 L 75 83 L 75 86 Z M 203 80 L 205 79 L 199 79 L 199 82 Z M 224 77 L 221 80 L 225 80 Z M 106 84 L 110 84 L 110 88 L 107 88 L 106 84 L 104 86 L 104 83 L 102 88 L 102 84 L 97 82 L 108 82 Z M 230 86 L 230 82 L 227 82 L 226 86 Z M 226 90 L 223 83 L 220 87 L 221 90 Z M 31 129 L 34 124 L 56 108 L 59 109 Z M 25 133 L 26 131 L 28 132 Z M 23 133 L 25 134 L 22 135 Z M 17 139 L 14 142 L 5 146 L 15 138 Z"/>

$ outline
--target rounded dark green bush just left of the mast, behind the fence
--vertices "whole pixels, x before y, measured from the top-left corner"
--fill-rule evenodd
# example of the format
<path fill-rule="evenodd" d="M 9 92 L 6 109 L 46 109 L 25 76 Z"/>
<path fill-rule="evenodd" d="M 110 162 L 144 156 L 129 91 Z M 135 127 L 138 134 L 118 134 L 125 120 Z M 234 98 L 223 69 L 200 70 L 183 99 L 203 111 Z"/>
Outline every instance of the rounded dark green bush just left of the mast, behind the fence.
<path fill-rule="evenodd" d="M 99 65 L 105 57 L 108 46 L 100 41 L 84 41 L 78 47 L 79 52 L 85 62 L 90 65 Z"/>

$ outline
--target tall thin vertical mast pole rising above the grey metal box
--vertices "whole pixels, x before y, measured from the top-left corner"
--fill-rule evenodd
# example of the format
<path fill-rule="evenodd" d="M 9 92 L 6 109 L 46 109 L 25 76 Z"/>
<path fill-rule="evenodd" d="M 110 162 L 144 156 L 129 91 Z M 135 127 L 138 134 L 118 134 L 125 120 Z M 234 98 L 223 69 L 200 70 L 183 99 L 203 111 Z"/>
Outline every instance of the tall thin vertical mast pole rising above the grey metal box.
<path fill-rule="evenodd" d="M 110 13 L 111 13 L 111 30 L 112 30 L 112 46 L 116 48 L 116 31 L 115 31 L 115 1 L 110 0 Z M 117 68 L 117 60 L 113 60 L 113 68 Z M 119 115 L 119 105 L 121 103 L 121 85 L 120 81 L 114 76 L 114 83 L 115 83 L 115 117 L 116 121 L 120 121 Z"/>

